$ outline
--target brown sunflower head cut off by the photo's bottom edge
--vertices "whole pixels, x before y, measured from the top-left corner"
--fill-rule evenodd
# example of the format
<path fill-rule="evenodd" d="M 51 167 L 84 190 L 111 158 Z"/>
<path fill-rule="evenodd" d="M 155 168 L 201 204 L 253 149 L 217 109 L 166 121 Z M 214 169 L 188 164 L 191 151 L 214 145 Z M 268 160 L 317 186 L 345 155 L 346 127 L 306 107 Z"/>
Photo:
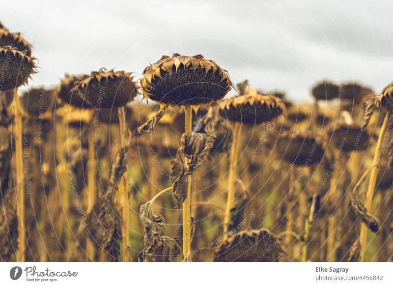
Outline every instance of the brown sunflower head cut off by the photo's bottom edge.
<path fill-rule="evenodd" d="M 213 261 L 273 262 L 283 253 L 280 240 L 268 229 L 245 230 L 226 237 Z"/>

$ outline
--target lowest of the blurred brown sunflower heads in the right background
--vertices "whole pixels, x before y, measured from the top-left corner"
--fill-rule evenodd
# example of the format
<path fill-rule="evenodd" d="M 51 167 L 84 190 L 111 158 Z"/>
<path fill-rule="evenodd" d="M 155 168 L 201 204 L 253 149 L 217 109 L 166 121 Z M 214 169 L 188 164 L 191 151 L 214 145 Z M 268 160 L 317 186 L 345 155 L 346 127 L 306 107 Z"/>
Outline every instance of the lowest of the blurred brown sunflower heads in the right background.
<path fill-rule="evenodd" d="M 283 132 L 277 142 L 282 159 L 296 166 L 310 166 L 322 161 L 326 151 L 323 140 L 312 133 Z"/>

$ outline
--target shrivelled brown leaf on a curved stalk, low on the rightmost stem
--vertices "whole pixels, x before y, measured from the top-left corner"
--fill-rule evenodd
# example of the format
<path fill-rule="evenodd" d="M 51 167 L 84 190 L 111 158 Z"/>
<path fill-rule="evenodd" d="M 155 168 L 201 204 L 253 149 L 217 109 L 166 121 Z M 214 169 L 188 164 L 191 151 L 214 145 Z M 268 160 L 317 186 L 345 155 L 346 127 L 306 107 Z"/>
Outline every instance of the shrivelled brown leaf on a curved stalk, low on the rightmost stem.
<path fill-rule="evenodd" d="M 361 200 L 362 194 L 358 192 L 360 183 L 364 180 L 366 174 L 367 172 L 362 176 L 362 178 L 354 187 L 353 192 L 351 194 L 351 204 L 356 214 L 358 214 L 362 218 L 362 221 L 365 223 L 367 228 L 370 229 L 372 232 L 378 234 L 379 226 L 380 226 L 379 221 L 375 216 L 373 216 L 367 211 L 363 201 Z"/>

